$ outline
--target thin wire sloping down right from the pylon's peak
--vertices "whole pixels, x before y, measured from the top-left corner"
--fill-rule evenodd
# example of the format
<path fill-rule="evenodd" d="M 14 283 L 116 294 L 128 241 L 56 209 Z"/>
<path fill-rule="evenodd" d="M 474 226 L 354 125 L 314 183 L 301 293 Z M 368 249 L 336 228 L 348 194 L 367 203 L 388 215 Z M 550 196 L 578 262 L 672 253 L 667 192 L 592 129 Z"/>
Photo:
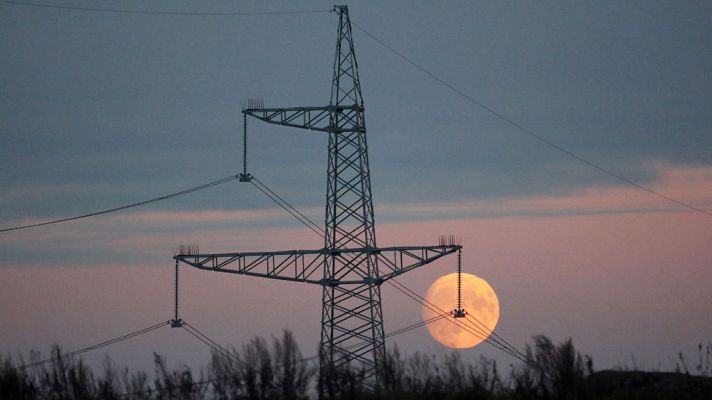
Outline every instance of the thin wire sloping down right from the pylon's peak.
<path fill-rule="evenodd" d="M 475 99 L 474 97 L 470 96 L 469 94 L 467 94 L 467 93 L 463 92 L 462 90 L 458 89 L 458 88 L 455 87 L 454 85 L 450 84 L 449 82 L 447 82 L 447 81 L 444 80 L 443 78 L 441 78 L 441 77 L 439 77 L 438 75 L 436 75 L 434 72 L 431 72 L 431 71 L 428 70 L 427 68 L 425 68 L 425 67 L 423 67 L 422 65 L 416 63 L 412 58 L 406 56 L 405 54 L 403 54 L 403 53 L 401 53 L 400 51 L 396 50 L 393 46 L 391 46 L 391 45 L 389 45 L 388 43 L 384 42 L 383 40 L 379 39 L 376 35 L 372 34 L 372 33 L 369 32 L 369 31 L 367 31 L 365 28 L 363 28 L 363 27 L 360 26 L 359 24 L 357 24 L 357 23 L 355 23 L 355 22 L 352 22 L 351 24 L 354 25 L 356 28 L 358 28 L 361 32 L 363 32 L 363 33 L 365 33 L 366 35 L 368 35 L 371 39 L 373 39 L 374 41 L 376 41 L 376 43 L 380 44 L 381 46 L 383 46 L 384 48 L 386 48 L 387 50 L 389 50 L 389 51 L 392 52 L 393 54 L 395 54 L 395 55 L 397 55 L 398 57 L 400 57 L 400 58 L 401 58 L 403 61 L 405 61 L 406 63 L 412 65 L 413 67 L 415 67 L 416 69 L 418 69 L 418 70 L 421 71 L 422 73 L 424 73 L 424 74 L 428 75 L 429 77 L 433 78 L 433 79 L 436 80 L 438 83 L 440 83 L 440 84 L 442 84 L 443 86 L 445 86 L 446 88 L 450 89 L 452 92 L 454 92 L 454 93 L 457 94 L 458 96 L 462 97 L 463 99 L 467 100 L 467 101 L 470 102 L 471 104 L 473 104 L 473 105 L 475 105 L 475 106 L 477 106 L 477 107 L 479 107 L 479 108 L 481 108 L 481 109 L 483 109 L 483 110 L 489 112 L 490 114 L 494 115 L 495 117 L 499 118 L 500 120 L 502 120 L 502 121 L 506 122 L 507 124 L 513 126 L 514 128 L 516 128 L 516 129 L 519 130 L 520 132 L 523 132 L 523 133 L 525 133 L 525 134 L 527 134 L 527 135 L 529 135 L 529 136 L 531 136 L 531 137 L 537 139 L 538 141 L 544 143 L 545 145 L 547 145 L 547 146 L 549 146 L 549 147 L 551 147 L 551 148 L 553 148 L 553 149 L 555 149 L 555 150 L 558 150 L 559 152 L 561 152 L 561 153 L 563 153 L 563 154 L 566 154 L 567 156 L 573 158 L 574 160 L 579 161 L 579 162 L 581 162 L 581 163 L 583 163 L 583 164 L 585 164 L 585 165 L 587 165 L 587 166 L 589 166 L 589 167 L 591 167 L 591 168 L 593 168 L 593 169 L 596 169 L 596 170 L 598 170 L 599 172 L 602 172 L 602 173 L 604 173 L 604 174 L 606 174 L 606 175 L 608 175 L 608 176 L 611 176 L 611 177 L 613 177 L 613 178 L 615 178 L 615 179 L 617 179 L 617 180 L 619 180 L 619 181 L 621 181 L 621 182 L 623 182 L 623 183 L 625 183 L 625 184 L 628 184 L 628 185 L 630 185 L 630 186 L 633 186 L 633 187 L 635 187 L 635 188 L 637 188 L 637 189 L 639 189 L 639 190 L 648 192 L 648 193 L 650 193 L 650 194 L 652 194 L 652 195 L 655 195 L 655 196 L 657 196 L 657 197 L 659 197 L 659 198 L 662 198 L 662 199 L 664 199 L 664 200 L 667 200 L 667 201 L 669 201 L 669 202 L 675 203 L 675 204 L 677 204 L 677 205 L 679 205 L 679 206 L 681 206 L 681 207 L 687 208 L 687 209 L 692 210 L 692 211 L 700 212 L 700 213 L 702 213 L 702 214 L 706 214 L 706 215 L 712 217 L 712 212 L 710 212 L 710 211 L 704 210 L 704 209 L 699 208 L 699 207 L 695 207 L 695 206 L 693 206 L 693 205 L 691 205 L 691 204 L 688 204 L 688 203 L 686 203 L 686 202 L 684 202 L 684 201 L 677 200 L 677 199 L 672 198 L 672 197 L 670 197 L 670 196 L 668 196 L 668 195 L 665 195 L 665 194 L 663 194 L 663 193 L 661 193 L 661 192 L 658 192 L 658 191 L 656 191 L 656 190 L 654 190 L 654 189 L 651 189 L 651 188 L 649 188 L 649 187 L 647 187 L 647 186 L 645 186 L 645 185 L 642 185 L 642 184 L 640 184 L 640 183 L 637 183 L 637 182 L 635 182 L 635 181 L 632 180 L 632 179 L 626 178 L 626 177 L 624 177 L 623 175 L 620 175 L 620 174 L 618 174 L 618 173 L 616 173 L 616 172 L 614 172 L 614 171 L 612 171 L 612 170 L 610 170 L 610 169 L 608 169 L 608 168 L 605 168 L 605 167 L 603 167 L 603 166 L 601 166 L 601 165 L 599 165 L 599 164 L 597 164 L 597 163 L 595 163 L 595 162 L 593 162 L 593 161 L 589 161 L 589 160 L 583 158 L 582 156 L 579 156 L 578 154 L 574 153 L 573 151 L 571 151 L 571 150 L 569 150 L 569 149 L 567 149 L 567 148 L 565 148 L 565 147 L 563 147 L 563 146 L 561 146 L 561 145 L 559 145 L 559 144 L 556 144 L 555 142 L 551 141 L 550 139 L 547 139 L 546 137 L 544 137 L 544 136 L 542 136 L 542 135 L 540 135 L 540 134 L 538 134 L 538 133 L 532 131 L 531 129 L 525 127 L 524 125 L 522 125 L 522 124 L 520 124 L 520 123 L 514 121 L 513 119 L 507 117 L 506 115 L 500 113 L 499 111 L 493 109 L 492 107 L 490 107 L 490 106 L 484 104 L 483 102 L 481 102 L 481 101 Z"/>

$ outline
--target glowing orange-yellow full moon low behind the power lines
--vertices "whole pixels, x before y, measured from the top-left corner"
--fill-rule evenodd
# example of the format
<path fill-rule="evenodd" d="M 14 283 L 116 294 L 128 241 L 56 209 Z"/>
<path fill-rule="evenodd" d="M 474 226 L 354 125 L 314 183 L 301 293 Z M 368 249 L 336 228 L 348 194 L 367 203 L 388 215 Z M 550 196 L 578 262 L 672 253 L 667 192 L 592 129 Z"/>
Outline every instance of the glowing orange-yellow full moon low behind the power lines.
<path fill-rule="evenodd" d="M 425 298 L 443 311 L 457 308 L 457 274 L 452 273 L 438 278 L 430 285 Z M 448 315 L 426 325 L 430 336 L 454 349 L 467 349 L 482 343 L 494 331 L 499 320 L 497 295 L 484 279 L 472 274 L 462 274 L 462 308 L 467 312 L 466 318 L 455 319 Z M 439 311 L 432 311 L 423 306 L 423 321 L 438 315 L 440 315 Z M 486 329 L 476 329 L 470 326 L 469 330 L 479 333 L 477 336 L 453 324 L 458 322 L 480 326 L 477 321 L 486 327 Z"/>

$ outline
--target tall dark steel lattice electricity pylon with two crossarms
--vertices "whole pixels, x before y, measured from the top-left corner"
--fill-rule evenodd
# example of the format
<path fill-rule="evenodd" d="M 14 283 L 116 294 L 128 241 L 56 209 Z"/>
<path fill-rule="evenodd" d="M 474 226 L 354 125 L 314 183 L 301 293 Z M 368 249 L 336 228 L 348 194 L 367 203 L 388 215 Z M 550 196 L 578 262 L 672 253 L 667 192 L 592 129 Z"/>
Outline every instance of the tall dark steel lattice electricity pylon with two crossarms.
<path fill-rule="evenodd" d="M 381 284 L 456 252 L 461 246 L 379 248 L 371 197 L 364 105 L 347 6 L 339 15 L 331 100 L 328 106 L 265 108 L 251 102 L 242 110 L 264 122 L 329 135 L 324 247 L 317 250 L 178 254 L 193 267 L 322 287 L 320 360 L 322 371 L 355 362 L 378 384 L 385 360 Z M 247 173 L 240 180 L 249 181 Z"/>

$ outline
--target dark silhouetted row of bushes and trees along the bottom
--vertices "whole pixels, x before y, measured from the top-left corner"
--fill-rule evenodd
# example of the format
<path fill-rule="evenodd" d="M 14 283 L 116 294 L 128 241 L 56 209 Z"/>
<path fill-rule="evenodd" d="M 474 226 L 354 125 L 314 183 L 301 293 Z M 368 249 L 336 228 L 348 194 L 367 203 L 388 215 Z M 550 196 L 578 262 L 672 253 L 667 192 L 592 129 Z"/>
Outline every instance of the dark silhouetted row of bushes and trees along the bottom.
<path fill-rule="evenodd" d="M 169 370 L 154 354 L 155 371 L 116 368 L 107 358 L 100 371 L 81 359 L 62 358 L 21 369 L 23 360 L 0 358 L 0 399 L 711 399 L 712 343 L 700 345 L 695 365 L 680 356 L 675 372 L 594 371 L 569 339 L 555 344 L 536 336 L 528 363 L 503 375 L 494 360 L 464 362 L 458 352 L 440 356 L 400 354 L 391 347 L 381 387 L 364 383 L 358 368 L 322 371 L 304 361 L 290 332 L 271 343 L 255 338 L 230 354 L 213 353 L 198 372 Z M 39 360 L 34 353 L 32 361 Z"/>

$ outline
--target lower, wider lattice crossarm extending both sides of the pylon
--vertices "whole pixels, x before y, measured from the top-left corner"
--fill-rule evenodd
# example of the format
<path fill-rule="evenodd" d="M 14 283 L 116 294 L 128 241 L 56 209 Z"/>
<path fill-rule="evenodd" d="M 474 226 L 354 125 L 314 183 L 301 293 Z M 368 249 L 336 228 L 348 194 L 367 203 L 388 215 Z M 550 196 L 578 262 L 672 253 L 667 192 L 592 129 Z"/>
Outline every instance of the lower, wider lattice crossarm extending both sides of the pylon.
<path fill-rule="evenodd" d="M 356 249 L 284 250 L 269 252 L 240 252 L 216 254 L 179 254 L 174 258 L 192 267 L 216 272 L 250 275 L 260 278 L 311 283 L 321 286 L 376 284 L 429 264 L 440 257 L 456 252 L 460 246 L 402 246 L 362 247 Z M 379 269 L 385 273 L 369 276 L 366 270 L 352 269 L 348 260 L 359 260 L 359 255 L 372 254 Z M 345 279 L 323 278 L 325 257 L 344 260 L 349 274 Z M 342 268 L 342 269 L 343 269 Z M 341 274 L 339 274 L 341 275 Z"/>

